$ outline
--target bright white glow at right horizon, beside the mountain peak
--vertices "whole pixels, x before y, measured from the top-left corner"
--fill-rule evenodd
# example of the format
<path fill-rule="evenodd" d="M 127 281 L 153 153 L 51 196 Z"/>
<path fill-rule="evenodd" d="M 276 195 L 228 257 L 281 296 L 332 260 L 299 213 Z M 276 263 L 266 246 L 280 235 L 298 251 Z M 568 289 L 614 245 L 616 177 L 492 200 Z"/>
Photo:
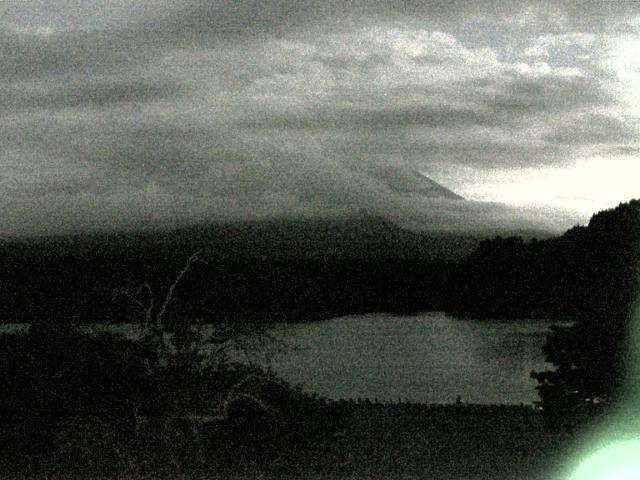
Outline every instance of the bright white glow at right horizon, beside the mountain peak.
<path fill-rule="evenodd" d="M 594 157 L 569 167 L 501 170 L 462 184 L 470 199 L 593 214 L 640 197 L 640 159 Z"/>

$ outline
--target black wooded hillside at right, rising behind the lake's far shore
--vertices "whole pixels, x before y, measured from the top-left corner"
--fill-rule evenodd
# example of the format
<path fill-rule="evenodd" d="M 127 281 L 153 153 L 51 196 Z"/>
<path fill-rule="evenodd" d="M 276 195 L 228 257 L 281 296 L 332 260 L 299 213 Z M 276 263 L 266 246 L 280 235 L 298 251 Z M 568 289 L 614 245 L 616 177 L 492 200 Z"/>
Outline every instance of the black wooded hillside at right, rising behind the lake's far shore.
<path fill-rule="evenodd" d="M 450 276 L 447 311 L 485 318 L 621 318 L 637 293 L 639 260 L 640 201 L 633 200 L 558 238 L 481 242 Z"/>

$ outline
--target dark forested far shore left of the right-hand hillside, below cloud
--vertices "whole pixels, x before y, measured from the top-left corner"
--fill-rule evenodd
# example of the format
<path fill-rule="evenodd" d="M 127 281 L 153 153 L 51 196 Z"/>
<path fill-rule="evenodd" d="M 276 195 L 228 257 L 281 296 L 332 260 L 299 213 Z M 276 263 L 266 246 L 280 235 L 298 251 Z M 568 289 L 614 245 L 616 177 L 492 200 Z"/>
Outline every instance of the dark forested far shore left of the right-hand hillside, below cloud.
<path fill-rule="evenodd" d="M 278 322 L 434 310 L 451 262 L 475 244 L 373 217 L 5 242 L 0 321 L 131 322 L 140 312 L 117 292 L 164 290 L 196 251 L 207 263 L 183 279 L 172 315 Z"/>

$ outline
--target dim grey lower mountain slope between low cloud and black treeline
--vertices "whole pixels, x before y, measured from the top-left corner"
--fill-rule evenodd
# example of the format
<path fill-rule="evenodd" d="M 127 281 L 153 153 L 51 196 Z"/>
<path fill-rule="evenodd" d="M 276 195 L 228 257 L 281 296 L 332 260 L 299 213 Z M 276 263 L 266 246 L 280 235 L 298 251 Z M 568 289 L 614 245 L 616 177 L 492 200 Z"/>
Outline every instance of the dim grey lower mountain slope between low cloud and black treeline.
<path fill-rule="evenodd" d="M 180 256 L 203 250 L 224 258 L 269 259 L 432 259 L 455 260 L 471 253 L 478 240 L 473 235 L 419 232 L 363 209 L 353 216 L 272 218 L 220 222 L 173 229 L 96 232 L 0 240 L 2 256 L 14 252 L 56 255 L 93 255 L 101 252 L 142 257 L 149 252 Z"/>

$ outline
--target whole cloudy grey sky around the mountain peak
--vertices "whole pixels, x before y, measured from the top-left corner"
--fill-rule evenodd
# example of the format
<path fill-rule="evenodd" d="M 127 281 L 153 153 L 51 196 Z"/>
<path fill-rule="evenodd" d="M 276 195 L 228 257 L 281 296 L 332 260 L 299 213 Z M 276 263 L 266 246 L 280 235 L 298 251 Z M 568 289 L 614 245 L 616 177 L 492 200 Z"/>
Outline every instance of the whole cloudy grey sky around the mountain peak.
<path fill-rule="evenodd" d="M 631 0 L 3 1 L 0 234 L 564 228 L 640 196 L 638 52 Z"/>

